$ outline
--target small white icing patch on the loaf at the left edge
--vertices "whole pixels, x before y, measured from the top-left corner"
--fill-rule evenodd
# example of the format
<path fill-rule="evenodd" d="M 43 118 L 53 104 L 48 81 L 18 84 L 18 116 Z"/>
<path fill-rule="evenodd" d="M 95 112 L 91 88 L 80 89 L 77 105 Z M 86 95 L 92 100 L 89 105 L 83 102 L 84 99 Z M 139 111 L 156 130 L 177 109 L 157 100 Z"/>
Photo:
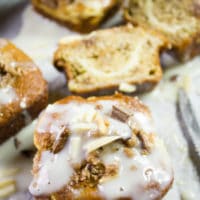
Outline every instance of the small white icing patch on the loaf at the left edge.
<path fill-rule="evenodd" d="M 15 89 L 11 86 L 0 88 L 0 105 L 9 104 L 18 100 Z"/>

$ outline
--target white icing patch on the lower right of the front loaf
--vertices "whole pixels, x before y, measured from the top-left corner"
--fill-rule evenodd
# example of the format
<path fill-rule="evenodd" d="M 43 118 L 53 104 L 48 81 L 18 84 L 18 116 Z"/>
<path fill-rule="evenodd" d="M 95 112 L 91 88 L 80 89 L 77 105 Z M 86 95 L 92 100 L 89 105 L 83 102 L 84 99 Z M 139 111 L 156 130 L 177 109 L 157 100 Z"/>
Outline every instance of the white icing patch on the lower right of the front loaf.
<path fill-rule="evenodd" d="M 113 145 L 116 146 L 116 143 Z M 172 177 L 170 161 L 160 140 L 156 140 L 154 150 L 147 156 L 142 156 L 133 149 L 132 159 L 125 156 L 120 145 L 115 153 L 111 153 L 110 149 L 106 147 L 102 153 L 104 163 L 119 163 L 120 168 L 117 177 L 98 186 L 106 199 L 132 197 L 132 199 L 151 200 L 155 199 L 158 191 L 145 190 L 142 187 L 145 187 L 150 180 L 159 183 L 160 189 L 164 189 L 170 183 Z M 145 174 L 146 170 L 149 170 L 148 174 Z"/>

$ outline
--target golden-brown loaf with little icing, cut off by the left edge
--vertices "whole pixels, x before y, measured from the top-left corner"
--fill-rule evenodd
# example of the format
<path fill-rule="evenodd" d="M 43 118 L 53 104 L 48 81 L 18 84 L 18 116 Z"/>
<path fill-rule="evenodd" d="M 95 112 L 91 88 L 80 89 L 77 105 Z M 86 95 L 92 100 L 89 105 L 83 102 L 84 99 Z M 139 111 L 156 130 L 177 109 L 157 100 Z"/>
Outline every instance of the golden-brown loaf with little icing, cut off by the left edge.
<path fill-rule="evenodd" d="M 0 143 L 31 122 L 47 104 L 47 84 L 33 61 L 0 39 Z"/>

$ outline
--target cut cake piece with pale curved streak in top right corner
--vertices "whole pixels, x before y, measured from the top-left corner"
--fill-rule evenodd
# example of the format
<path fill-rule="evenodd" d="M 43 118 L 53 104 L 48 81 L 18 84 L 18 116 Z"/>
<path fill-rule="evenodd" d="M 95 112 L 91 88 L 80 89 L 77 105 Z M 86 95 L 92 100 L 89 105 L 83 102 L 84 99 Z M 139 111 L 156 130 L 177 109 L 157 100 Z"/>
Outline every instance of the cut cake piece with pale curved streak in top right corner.
<path fill-rule="evenodd" d="M 162 33 L 182 60 L 200 53 L 199 0 L 128 0 L 124 17 Z"/>

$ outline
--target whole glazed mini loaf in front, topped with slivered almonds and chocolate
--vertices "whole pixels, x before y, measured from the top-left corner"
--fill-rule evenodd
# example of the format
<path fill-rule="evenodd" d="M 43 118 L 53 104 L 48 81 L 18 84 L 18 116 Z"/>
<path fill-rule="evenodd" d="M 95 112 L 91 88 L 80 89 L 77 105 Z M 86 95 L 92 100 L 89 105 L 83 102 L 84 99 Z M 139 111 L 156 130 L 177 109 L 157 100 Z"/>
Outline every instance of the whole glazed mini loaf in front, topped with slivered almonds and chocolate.
<path fill-rule="evenodd" d="M 159 200 L 173 182 L 168 154 L 137 98 L 69 96 L 41 114 L 34 142 L 29 190 L 37 200 Z"/>

